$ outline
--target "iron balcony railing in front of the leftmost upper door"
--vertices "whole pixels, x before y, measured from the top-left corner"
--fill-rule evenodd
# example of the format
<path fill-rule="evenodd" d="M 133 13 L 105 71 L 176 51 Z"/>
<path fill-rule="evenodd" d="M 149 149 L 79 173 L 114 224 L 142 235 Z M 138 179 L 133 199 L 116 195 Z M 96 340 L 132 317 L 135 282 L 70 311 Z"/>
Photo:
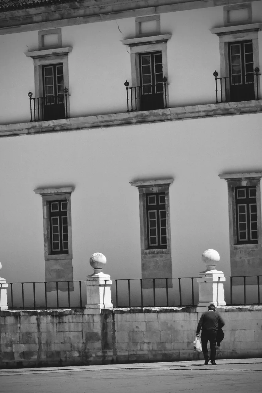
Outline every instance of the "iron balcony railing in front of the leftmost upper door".
<path fill-rule="evenodd" d="M 33 97 L 29 91 L 30 121 L 68 119 L 68 89 L 57 95 Z"/>

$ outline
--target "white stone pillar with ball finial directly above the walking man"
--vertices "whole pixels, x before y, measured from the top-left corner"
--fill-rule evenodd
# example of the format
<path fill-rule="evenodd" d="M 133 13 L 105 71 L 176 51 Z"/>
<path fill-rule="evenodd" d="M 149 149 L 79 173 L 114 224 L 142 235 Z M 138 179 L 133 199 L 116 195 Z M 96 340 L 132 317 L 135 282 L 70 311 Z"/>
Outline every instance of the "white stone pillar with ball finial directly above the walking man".
<path fill-rule="evenodd" d="M 202 254 L 202 261 L 207 265 L 204 272 L 198 274 L 199 303 L 198 307 L 207 307 L 210 303 L 215 306 L 225 306 L 224 273 L 216 270 L 216 263 L 220 260 L 216 250 L 206 250 Z"/>

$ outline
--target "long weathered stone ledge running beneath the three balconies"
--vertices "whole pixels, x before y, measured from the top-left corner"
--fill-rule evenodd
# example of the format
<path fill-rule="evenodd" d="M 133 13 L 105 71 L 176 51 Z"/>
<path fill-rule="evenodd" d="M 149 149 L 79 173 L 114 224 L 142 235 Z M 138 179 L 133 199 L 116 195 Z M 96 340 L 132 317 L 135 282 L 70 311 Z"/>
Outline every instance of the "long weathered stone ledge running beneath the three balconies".
<path fill-rule="evenodd" d="M 0 137 L 257 112 L 262 112 L 262 100 L 192 105 L 188 107 L 114 113 L 71 119 L 4 124 L 0 125 Z"/>

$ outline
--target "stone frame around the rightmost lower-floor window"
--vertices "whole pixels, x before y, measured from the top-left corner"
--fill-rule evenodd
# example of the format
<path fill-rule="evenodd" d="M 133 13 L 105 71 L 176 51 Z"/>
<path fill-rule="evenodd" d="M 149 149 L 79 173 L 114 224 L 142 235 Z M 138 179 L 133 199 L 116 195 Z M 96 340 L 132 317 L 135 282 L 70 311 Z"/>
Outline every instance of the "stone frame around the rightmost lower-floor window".
<path fill-rule="evenodd" d="M 229 244 L 231 248 L 244 250 L 248 248 L 260 248 L 262 244 L 262 222 L 261 222 L 261 191 L 260 179 L 262 172 L 229 173 L 219 174 L 220 179 L 227 181 L 228 213 L 229 213 Z M 255 186 L 257 191 L 257 230 L 258 242 L 250 244 L 237 244 L 236 237 L 236 213 L 235 213 L 235 187 Z"/>

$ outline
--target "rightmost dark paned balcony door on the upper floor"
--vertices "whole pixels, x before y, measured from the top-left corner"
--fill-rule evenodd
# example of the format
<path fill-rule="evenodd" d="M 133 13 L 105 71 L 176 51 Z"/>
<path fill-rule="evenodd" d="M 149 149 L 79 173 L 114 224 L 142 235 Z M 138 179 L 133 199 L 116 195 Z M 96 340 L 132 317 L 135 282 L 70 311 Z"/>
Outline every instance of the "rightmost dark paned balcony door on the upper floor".
<path fill-rule="evenodd" d="M 252 40 L 228 43 L 230 101 L 255 99 Z"/>

